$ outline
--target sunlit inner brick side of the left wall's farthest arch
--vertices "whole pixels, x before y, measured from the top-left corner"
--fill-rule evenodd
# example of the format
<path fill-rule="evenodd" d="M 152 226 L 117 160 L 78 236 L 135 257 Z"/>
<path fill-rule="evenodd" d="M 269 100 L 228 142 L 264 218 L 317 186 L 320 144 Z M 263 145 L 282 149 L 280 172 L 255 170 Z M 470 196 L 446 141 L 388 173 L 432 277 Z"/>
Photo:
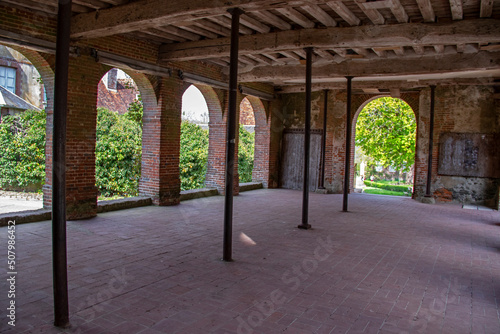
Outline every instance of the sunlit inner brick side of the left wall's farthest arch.
<path fill-rule="evenodd" d="M 269 149 L 271 141 L 271 124 L 267 118 L 266 106 L 255 96 L 245 97 L 251 104 L 255 118 L 255 149 L 252 181 L 262 182 L 265 188 L 269 185 Z M 267 104 L 268 105 L 268 104 Z"/>

